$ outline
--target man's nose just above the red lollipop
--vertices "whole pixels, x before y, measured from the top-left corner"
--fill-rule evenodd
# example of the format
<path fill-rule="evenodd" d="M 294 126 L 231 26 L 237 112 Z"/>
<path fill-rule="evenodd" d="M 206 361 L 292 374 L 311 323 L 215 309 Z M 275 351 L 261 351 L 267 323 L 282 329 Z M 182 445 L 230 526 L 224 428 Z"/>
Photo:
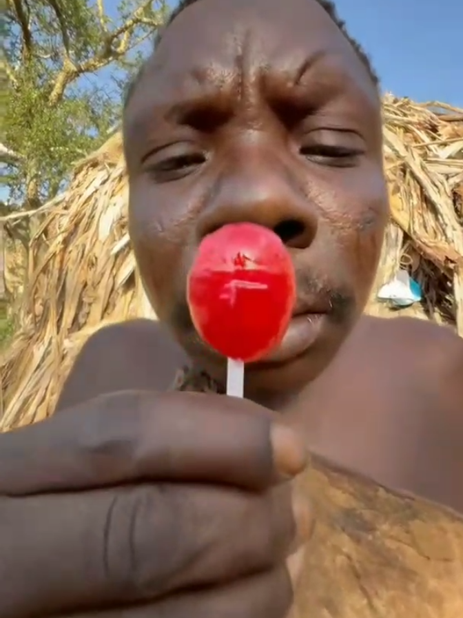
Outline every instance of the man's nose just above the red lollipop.
<path fill-rule="evenodd" d="M 228 223 L 249 222 L 272 229 L 287 247 L 309 247 L 318 216 L 290 168 L 269 148 L 229 152 L 198 216 L 198 240 Z"/>

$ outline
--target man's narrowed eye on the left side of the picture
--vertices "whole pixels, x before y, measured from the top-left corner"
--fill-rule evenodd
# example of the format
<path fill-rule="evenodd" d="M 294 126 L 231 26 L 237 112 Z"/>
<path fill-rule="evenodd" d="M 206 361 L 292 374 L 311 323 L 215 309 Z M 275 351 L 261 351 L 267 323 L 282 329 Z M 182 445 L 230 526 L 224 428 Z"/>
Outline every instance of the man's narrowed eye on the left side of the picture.
<path fill-rule="evenodd" d="M 207 156 L 191 146 L 175 144 L 158 150 L 147 157 L 147 169 L 156 183 L 167 183 L 184 178 L 201 167 Z"/>

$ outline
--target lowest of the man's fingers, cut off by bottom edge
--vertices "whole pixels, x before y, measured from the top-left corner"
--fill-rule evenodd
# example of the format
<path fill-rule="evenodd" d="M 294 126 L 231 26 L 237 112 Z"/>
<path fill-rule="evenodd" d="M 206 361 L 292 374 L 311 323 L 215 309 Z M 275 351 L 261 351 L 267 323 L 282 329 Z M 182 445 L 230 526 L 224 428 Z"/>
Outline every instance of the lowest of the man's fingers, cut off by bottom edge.
<path fill-rule="evenodd" d="M 169 597 L 147 606 L 59 618 L 285 618 L 293 593 L 283 567 L 223 587 Z"/>

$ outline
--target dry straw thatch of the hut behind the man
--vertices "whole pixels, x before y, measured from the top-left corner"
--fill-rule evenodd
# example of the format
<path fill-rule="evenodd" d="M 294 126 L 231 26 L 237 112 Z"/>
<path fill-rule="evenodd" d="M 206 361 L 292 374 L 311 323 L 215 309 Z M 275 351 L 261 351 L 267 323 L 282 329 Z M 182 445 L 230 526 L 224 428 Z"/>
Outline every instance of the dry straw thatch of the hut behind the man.
<path fill-rule="evenodd" d="M 392 219 L 375 288 L 409 265 L 426 296 L 412 313 L 463 335 L 463 110 L 387 96 L 384 145 Z M 44 210 L 19 332 L 1 362 L 0 429 L 50 413 L 76 351 L 96 329 L 152 316 L 127 235 L 120 134 L 79 163 L 67 191 Z M 374 300 L 369 306 L 387 311 Z"/>

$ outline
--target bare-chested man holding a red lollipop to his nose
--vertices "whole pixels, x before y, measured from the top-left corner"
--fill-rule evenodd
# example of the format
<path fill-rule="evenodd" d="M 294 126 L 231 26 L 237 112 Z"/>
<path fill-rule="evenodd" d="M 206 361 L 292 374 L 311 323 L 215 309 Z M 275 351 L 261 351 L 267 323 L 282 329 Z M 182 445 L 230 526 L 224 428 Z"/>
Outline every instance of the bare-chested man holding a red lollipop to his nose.
<path fill-rule="evenodd" d="M 284 618 L 311 533 L 307 496 L 290 506 L 307 446 L 463 509 L 462 341 L 361 317 L 388 217 L 367 57 L 324 0 L 185 5 L 124 114 L 130 234 L 161 325 L 97 333 L 60 413 L 1 436 L 6 618 Z M 287 246 L 294 318 L 247 367 L 247 400 L 167 392 L 184 366 L 223 389 L 185 284 L 200 240 L 240 220 Z"/>

